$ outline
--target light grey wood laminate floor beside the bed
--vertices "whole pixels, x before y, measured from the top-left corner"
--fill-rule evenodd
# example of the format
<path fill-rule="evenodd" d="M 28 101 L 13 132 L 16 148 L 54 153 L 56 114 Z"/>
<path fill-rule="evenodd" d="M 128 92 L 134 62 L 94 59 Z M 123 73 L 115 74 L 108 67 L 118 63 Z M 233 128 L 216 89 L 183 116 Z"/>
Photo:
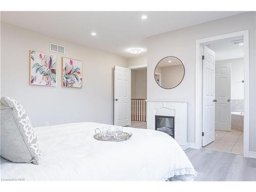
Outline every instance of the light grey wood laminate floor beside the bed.
<path fill-rule="evenodd" d="M 256 181 L 256 159 L 207 148 L 185 153 L 198 173 L 196 181 Z"/>

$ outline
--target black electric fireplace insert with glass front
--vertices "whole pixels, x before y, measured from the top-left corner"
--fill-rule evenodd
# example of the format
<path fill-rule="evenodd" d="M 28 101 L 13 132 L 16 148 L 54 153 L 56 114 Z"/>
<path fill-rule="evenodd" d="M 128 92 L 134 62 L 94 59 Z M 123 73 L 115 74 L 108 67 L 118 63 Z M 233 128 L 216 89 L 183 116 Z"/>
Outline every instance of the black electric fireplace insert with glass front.
<path fill-rule="evenodd" d="M 164 132 L 174 138 L 174 117 L 156 115 L 155 130 Z"/>

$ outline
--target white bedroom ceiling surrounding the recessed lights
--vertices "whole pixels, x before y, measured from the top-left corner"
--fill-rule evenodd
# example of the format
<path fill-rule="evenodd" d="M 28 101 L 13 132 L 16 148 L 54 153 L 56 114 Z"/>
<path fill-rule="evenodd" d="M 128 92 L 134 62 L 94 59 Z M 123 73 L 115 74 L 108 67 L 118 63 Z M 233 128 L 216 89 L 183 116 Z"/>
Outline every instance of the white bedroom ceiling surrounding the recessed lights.
<path fill-rule="evenodd" d="M 238 11 L 168 12 L 1 12 L 1 20 L 125 58 L 145 54 L 145 38 L 239 14 Z M 147 15 L 142 20 L 141 16 Z M 97 33 L 92 36 L 91 32 Z M 129 49 L 140 48 L 140 54 Z M 68 48 L 67 48 L 68 49 Z"/>

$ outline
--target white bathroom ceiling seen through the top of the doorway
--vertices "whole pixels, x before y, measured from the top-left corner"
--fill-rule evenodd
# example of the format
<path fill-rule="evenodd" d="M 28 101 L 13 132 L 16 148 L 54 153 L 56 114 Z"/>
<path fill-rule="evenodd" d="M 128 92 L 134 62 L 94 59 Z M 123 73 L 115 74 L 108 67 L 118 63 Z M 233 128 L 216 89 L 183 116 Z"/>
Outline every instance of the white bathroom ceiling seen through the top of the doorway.
<path fill-rule="evenodd" d="M 233 40 L 240 39 L 243 39 L 243 37 L 232 37 L 207 45 L 207 47 L 215 52 L 216 60 L 241 58 L 244 57 L 244 46 L 233 45 L 231 43 Z"/>

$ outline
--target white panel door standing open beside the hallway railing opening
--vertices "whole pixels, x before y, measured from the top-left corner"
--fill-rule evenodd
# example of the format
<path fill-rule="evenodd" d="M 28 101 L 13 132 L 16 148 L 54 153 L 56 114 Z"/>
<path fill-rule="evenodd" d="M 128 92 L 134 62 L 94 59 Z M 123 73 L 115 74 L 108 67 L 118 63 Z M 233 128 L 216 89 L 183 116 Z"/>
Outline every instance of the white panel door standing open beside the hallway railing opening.
<path fill-rule="evenodd" d="M 131 69 L 115 66 L 114 125 L 131 125 Z"/>

